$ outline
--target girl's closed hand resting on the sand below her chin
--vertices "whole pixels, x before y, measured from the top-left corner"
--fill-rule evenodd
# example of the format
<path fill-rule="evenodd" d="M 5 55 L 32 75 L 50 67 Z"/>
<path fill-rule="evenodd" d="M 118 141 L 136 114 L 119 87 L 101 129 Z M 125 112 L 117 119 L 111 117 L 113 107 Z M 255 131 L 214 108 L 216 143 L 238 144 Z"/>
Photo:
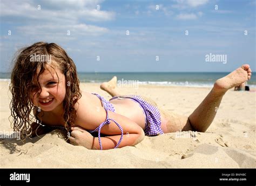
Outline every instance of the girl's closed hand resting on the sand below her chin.
<path fill-rule="evenodd" d="M 69 137 L 70 144 L 84 146 L 87 149 L 93 149 L 92 144 L 94 138 L 89 132 L 79 126 L 71 127 L 71 130 L 71 136 Z"/>

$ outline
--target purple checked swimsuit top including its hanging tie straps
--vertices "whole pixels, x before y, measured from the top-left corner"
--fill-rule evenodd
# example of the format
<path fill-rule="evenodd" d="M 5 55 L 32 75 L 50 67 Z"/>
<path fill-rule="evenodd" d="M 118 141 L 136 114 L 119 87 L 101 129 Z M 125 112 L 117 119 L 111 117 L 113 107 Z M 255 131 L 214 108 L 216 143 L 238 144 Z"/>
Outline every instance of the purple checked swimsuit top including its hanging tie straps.
<path fill-rule="evenodd" d="M 115 124 L 117 124 L 118 128 L 120 128 L 120 130 L 121 130 L 121 138 L 119 139 L 117 145 L 114 147 L 114 148 L 117 148 L 120 145 L 120 142 L 123 140 L 124 131 L 123 131 L 123 128 L 117 123 L 117 121 L 109 118 L 109 111 L 112 111 L 112 112 L 115 111 L 114 106 L 109 101 L 107 101 L 104 97 L 102 97 L 98 94 L 95 94 L 95 93 L 92 93 L 92 94 L 96 95 L 102 102 L 103 107 L 106 111 L 106 120 L 103 123 L 101 123 L 95 130 L 89 130 L 88 132 L 90 132 L 90 133 L 98 132 L 99 147 L 100 147 L 100 150 L 102 150 L 103 148 L 102 148 L 102 140 L 100 139 L 100 130 L 102 129 L 102 127 L 104 125 L 109 125 L 110 121 L 113 121 Z"/>

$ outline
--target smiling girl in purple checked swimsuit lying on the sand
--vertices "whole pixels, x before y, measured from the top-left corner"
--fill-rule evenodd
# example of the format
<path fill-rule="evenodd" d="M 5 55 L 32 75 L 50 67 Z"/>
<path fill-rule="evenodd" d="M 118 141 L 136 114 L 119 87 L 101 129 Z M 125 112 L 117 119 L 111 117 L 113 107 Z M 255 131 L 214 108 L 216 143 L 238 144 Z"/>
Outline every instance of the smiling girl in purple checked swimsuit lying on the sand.
<path fill-rule="evenodd" d="M 10 84 L 12 127 L 15 132 L 30 131 L 26 135 L 32 137 L 65 127 L 71 131 L 71 144 L 88 149 L 134 146 L 145 135 L 205 132 L 226 91 L 250 80 L 251 74 L 250 66 L 242 65 L 220 78 L 197 109 L 185 117 L 157 108 L 150 98 L 119 95 L 116 77 L 100 85 L 113 96 L 110 101 L 81 92 L 75 63 L 64 49 L 37 42 L 23 48 L 15 59 Z M 39 122 L 33 122 L 35 119 Z M 93 137 L 95 132 L 98 137 Z"/>

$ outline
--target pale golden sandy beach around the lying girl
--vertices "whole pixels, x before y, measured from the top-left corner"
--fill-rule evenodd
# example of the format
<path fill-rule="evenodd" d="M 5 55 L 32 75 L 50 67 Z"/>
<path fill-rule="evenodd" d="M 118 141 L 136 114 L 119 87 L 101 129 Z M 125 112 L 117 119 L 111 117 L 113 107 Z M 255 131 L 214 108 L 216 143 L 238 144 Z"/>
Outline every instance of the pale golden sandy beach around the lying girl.
<path fill-rule="evenodd" d="M 110 99 L 99 84 L 80 88 Z M 188 116 L 210 88 L 140 85 L 121 88 L 123 94 L 151 97 L 161 108 Z M 10 127 L 8 82 L 0 81 L 0 132 Z M 229 90 L 205 133 L 176 132 L 145 137 L 136 146 L 89 150 L 66 142 L 60 131 L 25 142 L 0 139 L 0 168 L 255 168 L 256 92 Z"/>

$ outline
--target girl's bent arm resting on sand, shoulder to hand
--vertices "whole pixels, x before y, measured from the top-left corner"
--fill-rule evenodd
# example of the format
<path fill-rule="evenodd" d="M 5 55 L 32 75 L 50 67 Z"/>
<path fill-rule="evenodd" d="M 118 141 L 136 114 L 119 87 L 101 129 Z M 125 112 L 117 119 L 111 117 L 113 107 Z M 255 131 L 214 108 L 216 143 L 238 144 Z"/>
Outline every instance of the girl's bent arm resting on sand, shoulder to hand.
<path fill-rule="evenodd" d="M 78 109 L 77 114 L 77 125 L 86 130 L 94 130 L 106 119 L 106 111 L 104 108 L 97 108 L 97 110 L 87 109 L 85 112 L 82 112 L 82 110 L 79 111 Z M 123 140 L 118 147 L 134 146 L 144 139 L 145 134 L 143 129 L 131 119 L 111 111 L 109 111 L 109 118 L 115 120 L 123 128 Z M 84 144 L 83 141 L 85 142 L 86 140 L 89 142 L 86 144 L 86 148 L 100 149 L 98 137 L 92 137 L 89 132 L 83 131 L 83 129 L 74 133 L 75 130 L 78 130 L 78 128 L 75 127 L 71 132 L 73 138 L 70 140 L 73 143 L 78 145 Z M 107 137 L 101 137 L 103 149 L 114 148 L 121 137 L 119 127 L 112 120 L 110 120 L 109 125 L 104 125 L 102 127 L 100 133 L 108 135 Z M 77 143 L 75 142 L 76 139 Z M 90 145 L 91 147 L 89 147 Z"/>

